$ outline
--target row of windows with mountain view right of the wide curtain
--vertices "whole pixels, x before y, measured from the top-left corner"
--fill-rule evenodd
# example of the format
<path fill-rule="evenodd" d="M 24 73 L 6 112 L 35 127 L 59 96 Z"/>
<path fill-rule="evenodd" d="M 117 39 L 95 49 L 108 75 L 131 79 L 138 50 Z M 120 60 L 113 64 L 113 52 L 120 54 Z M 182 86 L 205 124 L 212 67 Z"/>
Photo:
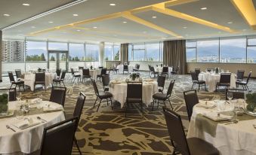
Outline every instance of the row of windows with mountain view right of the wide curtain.
<path fill-rule="evenodd" d="M 256 36 L 188 40 L 186 47 L 187 62 L 256 63 Z"/>

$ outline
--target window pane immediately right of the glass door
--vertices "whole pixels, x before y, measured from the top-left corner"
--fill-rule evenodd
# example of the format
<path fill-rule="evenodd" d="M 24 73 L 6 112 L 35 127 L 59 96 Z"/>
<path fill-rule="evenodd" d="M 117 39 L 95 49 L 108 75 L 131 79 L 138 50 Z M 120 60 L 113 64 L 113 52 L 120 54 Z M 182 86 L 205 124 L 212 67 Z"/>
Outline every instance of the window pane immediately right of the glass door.
<path fill-rule="evenodd" d="M 83 61 L 84 56 L 84 44 L 69 44 L 69 61 Z M 60 57 L 60 59 L 62 59 L 62 57 Z"/>

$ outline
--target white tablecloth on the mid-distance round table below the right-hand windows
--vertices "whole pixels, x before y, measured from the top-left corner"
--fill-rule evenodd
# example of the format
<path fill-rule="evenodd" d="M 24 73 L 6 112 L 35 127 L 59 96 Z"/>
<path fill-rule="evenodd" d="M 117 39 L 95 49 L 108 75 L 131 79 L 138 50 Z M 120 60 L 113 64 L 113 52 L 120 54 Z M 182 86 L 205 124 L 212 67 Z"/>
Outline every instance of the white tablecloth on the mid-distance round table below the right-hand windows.
<path fill-rule="evenodd" d="M 205 81 L 208 85 L 208 91 L 214 92 L 217 82 L 220 82 L 221 74 L 200 73 L 199 81 Z M 231 74 L 230 77 L 230 88 L 236 88 L 236 75 Z"/>

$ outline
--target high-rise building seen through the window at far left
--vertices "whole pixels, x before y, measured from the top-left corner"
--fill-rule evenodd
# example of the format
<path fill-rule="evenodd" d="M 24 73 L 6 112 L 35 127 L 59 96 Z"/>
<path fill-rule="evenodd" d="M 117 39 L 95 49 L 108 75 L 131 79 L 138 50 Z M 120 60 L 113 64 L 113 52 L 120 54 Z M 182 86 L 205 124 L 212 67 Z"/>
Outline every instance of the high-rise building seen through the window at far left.
<path fill-rule="evenodd" d="M 2 41 L 2 62 L 23 62 L 24 41 Z"/>

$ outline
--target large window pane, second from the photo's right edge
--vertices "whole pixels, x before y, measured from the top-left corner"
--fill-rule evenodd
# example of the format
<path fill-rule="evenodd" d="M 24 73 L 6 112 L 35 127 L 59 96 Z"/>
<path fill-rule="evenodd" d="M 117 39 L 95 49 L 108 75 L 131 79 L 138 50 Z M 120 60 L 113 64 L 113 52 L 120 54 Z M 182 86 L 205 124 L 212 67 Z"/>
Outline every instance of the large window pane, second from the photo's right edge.
<path fill-rule="evenodd" d="M 220 53 L 220 62 L 245 63 L 246 38 L 221 39 Z"/>

